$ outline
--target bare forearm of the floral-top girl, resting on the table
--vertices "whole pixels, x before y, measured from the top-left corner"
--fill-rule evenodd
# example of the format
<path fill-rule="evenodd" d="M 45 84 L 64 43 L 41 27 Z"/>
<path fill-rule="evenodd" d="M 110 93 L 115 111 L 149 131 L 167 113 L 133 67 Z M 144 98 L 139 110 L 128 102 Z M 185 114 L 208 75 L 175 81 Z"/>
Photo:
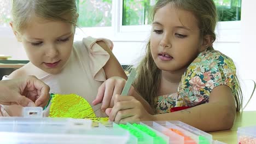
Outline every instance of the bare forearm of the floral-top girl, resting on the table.
<path fill-rule="evenodd" d="M 203 131 L 230 129 L 235 109 L 224 103 L 207 103 L 182 111 L 154 115 L 154 121 L 182 121 Z"/>

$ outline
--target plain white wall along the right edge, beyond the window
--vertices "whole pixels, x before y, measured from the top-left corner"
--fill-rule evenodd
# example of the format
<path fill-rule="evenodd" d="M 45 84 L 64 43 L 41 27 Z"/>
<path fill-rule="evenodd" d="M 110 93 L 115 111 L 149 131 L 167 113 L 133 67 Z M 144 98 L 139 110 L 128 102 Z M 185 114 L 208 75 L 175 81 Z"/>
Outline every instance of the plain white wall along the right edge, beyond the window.
<path fill-rule="evenodd" d="M 255 5 L 256 1 L 243 0 L 241 11 L 241 46 L 239 51 L 240 56 L 240 71 L 242 79 L 253 79 L 256 81 L 256 27 L 255 27 Z M 248 109 L 256 110 L 256 92 L 254 92 Z"/>

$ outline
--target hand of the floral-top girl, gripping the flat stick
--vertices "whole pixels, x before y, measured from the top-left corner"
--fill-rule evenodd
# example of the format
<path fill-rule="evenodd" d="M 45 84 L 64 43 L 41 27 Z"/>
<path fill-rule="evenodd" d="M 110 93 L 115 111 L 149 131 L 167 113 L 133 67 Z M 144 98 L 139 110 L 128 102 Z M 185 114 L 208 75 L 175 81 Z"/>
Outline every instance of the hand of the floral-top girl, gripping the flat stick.
<path fill-rule="evenodd" d="M 114 95 L 114 107 L 106 110 L 110 121 L 115 123 L 154 121 L 141 102 L 132 96 Z"/>

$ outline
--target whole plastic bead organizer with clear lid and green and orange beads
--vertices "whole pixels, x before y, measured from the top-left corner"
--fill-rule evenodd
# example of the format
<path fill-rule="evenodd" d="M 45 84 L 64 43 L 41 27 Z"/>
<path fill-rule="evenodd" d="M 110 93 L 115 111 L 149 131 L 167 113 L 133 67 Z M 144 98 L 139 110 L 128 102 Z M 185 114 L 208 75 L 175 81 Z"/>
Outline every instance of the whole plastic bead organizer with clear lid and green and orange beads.
<path fill-rule="evenodd" d="M 24 117 L 0 118 L 1 143 L 221 143 L 179 121 L 116 124 L 101 119 L 43 117 L 42 107 L 25 107 Z"/>

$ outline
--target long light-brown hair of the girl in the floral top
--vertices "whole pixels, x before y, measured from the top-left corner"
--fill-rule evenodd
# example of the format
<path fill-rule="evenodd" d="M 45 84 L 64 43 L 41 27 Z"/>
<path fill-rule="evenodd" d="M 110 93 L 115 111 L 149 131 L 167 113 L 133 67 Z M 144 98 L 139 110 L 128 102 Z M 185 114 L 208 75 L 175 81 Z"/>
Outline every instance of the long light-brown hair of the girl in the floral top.
<path fill-rule="evenodd" d="M 211 35 L 212 43 L 216 40 L 214 30 L 216 28 L 218 16 L 216 5 L 212 0 L 159 0 L 152 11 L 153 20 L 156 11 L 168 3 L 172 3 L 177 9 L 187 10 L 195 15 L 200 29 L 201 38 L 205 35 Z M 213 50 L 213 46 L 209 46 L 207 50 Z M 237 81 L 237 77 L 235 81 Z M 161 70 L 156 66 L 153 60 L 149 41 L 146 46 L 146 56 L 137 67 L 137 80 L 133 85 L 137 89 L 138 93 L 155 108 L 155 97 L 158 96 L 160 82 Z M 236 111 L 240 111 L 242 105 L 242 93 L 240 84 L 238 81 L 237 83 L 238 92 L 235 95 Z"/>

